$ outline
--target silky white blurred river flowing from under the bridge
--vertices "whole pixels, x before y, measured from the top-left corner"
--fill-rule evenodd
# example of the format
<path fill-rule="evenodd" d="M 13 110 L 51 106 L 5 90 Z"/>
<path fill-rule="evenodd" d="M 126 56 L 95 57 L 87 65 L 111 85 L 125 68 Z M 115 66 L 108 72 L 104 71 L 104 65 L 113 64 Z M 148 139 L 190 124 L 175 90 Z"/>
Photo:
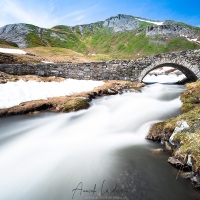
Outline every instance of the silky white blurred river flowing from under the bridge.
<path fill-rule="evenodd" d="M 94 100 L 88 110 L 0 119 L 0 200 L 197 200 L 151 124 L 180 112 L 178 85 Z"/>

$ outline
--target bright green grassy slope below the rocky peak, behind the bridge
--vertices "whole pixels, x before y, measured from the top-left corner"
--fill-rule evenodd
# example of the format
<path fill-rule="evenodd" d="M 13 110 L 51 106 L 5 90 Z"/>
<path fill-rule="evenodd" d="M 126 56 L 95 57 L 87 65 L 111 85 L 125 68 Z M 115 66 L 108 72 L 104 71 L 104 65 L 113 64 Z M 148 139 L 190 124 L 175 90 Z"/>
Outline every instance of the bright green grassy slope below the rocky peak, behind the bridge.
<path fill-rule="evenodd" d="M 200 45 L 178 37 L 169 40 L 150 38 L 145 33 L 94 34 L 85 39 L 89 52 L 109 55 L 113 59 L 134 59 L 158 53 L 199 49 Z"/>

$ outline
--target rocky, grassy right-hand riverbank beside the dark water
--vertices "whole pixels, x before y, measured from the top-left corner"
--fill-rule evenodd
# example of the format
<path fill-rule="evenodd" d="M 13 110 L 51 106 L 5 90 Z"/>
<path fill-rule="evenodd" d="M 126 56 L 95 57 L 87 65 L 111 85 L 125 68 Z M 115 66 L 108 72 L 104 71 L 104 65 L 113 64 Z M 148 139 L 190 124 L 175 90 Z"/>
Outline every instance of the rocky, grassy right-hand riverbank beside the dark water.
<path fill-rule="evenodd" d="M 200 81 L 186 87 L 188 90 L 181 95 L 182 114 L 152 125 L 146 138 L 161 141 L 171 152 L 168 162 L 200 189 Z"/>

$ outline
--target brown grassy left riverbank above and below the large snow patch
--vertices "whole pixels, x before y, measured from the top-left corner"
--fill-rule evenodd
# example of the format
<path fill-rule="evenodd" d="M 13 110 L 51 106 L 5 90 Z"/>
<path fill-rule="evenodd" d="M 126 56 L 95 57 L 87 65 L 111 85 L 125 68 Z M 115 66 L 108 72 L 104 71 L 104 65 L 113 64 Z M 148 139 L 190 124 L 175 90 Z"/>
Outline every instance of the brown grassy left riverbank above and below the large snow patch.
<path fill-rule="evenodd" d="M 18 80 L 34 80 L 37 82 L 61 82 L 64 78 L 60 77 L 40 77 L 35 75 L 16 76 L 9 75 L 3 72 L 0 73 L 0 82 L 15 82 Z M 76 93 L 69 96 L 53 97 L 47 100 L 35 100 L 21 103 L 17 106 L 0 109 L 0 117 L 19 115 L 19 114 L 34 114 L 40 111 L 55 111 L 55 112 L 71 112 L 81 109 L 86 109 L 90 106 L 89 102 L 97 97 L 120 94 L 123 90 L 138 92 L 143 83 L 129 81 L 104 81 L 105 84 L 94 88 L 92 91 Z"/>

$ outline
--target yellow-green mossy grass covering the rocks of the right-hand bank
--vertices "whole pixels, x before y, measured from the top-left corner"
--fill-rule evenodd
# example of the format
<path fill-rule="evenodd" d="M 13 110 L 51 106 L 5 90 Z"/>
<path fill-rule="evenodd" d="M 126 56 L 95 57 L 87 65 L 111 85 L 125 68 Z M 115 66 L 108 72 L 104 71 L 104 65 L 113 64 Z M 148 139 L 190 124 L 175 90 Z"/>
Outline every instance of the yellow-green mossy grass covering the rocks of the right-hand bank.
<path fill-rule="evenodd" d="M 147 136 L 148 139 L 160 141 L 169 140 L 176 126 L 186 121 L 189 128 L 178 132 L 174 136 L 174 142 L 179 144 L 173 148 L 173 156 L 186 163 L 187 156 L 192 156 L 193 171 L 200 171 L 200 81 L 186 84 L 188 88 L 181 95 L 182 114 L 164 122 L 154 124 Z"/>

